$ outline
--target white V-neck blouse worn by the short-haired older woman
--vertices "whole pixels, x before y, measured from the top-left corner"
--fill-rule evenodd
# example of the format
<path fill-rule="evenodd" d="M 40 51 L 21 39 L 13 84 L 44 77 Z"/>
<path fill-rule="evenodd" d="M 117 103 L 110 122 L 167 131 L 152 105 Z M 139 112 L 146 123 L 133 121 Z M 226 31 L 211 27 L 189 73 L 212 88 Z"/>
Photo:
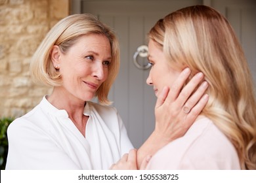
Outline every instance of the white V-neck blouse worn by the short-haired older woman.
<path fill-rule="evenodd" d="M 85 137 L 45 97 L 7 130 L 6 169 L 109 169 L 133 145 L 116 108 L 87 102 Z"/>

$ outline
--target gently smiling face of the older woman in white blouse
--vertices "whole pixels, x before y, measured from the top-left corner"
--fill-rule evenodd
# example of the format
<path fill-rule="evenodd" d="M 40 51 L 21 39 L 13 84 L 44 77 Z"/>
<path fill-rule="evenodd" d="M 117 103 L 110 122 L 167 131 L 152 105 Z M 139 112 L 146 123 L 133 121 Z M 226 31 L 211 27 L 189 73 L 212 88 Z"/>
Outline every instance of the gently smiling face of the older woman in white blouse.
<path fill-rule="evenodd" d="M 60 52 L 59 59 L 64 91 L 89 101 L 108 77 L 110 42 L 104 35 L 84 35 L 65 54 Z"/>

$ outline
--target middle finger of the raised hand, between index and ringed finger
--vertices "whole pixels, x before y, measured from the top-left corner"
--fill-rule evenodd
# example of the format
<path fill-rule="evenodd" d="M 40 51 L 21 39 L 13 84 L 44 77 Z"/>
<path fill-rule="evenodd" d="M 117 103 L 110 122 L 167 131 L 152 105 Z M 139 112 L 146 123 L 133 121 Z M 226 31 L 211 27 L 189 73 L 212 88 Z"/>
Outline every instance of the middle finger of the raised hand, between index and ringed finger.
<path fill-rule="evenodd" d="M 186 103 L 186 101 L 190 97 L 190 95 L 198 87 L 198 84 L 202 82 L 202 80 L 203 80 L 203 73 L 197 73 L 195 76 L 193 76 L 192 79 L 188 82 L 188 84 L 186 84 L 186 86 L 184 86 L 184 88 L 181 90 L 181 93 L 177 98 L 177 103 L 183 106 L 184 103 Z"/>

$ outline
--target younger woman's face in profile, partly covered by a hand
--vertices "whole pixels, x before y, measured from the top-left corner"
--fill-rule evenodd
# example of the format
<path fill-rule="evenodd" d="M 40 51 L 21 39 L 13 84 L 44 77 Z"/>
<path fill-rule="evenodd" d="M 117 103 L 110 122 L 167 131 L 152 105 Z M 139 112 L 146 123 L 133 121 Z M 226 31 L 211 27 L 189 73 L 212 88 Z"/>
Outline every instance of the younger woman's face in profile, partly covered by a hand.
<path fill-rule="evenodd" d="M 171 88 L 173 82 L 178 78 L 181 71 L 173 69 L 165 58 L 163 51 L 156 42 L 150 40 L 148 43 L 148 60 L 152 64 L 150 74 L 146 80 L 148 85 L 154 86 L 154 91 L 158 97 L 164 86 Z"/>

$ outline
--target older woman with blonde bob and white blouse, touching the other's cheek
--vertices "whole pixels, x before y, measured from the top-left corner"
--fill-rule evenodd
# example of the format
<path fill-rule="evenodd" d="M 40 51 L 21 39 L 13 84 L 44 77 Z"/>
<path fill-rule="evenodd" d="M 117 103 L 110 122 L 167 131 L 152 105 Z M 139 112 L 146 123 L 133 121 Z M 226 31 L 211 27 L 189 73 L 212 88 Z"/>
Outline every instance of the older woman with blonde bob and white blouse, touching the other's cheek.
<path fill-rule="evenodd" d="M 121 156 L 126 157 L 133 146 L 116 109 L 107 106 L 118 69 L 116 35 L 94 16 L 75 14 L 54 25 L 30 67 L 33 80 L 53 86 L 53 93 L 9 126 L 6 168 L 109 169 Z M 189 74 L 180 75 L 168 97 L 168 88 L 161 92 L 156 129 L 137 153 L 130 151 L 135 168 L 136 160 L 140 165 L 147 154 L 182 136 L 204 107 L 205 88 L 190 96 L 203 76 L 194 78 L 183 95 L 177 95 Z M 90 102 L 95 96 L 100 104 Z M 183 112 L 186 103 L 191 112 Z M 172 118 L 160 115 L 169 115 L 167 110 L 173 111 Z"/>

